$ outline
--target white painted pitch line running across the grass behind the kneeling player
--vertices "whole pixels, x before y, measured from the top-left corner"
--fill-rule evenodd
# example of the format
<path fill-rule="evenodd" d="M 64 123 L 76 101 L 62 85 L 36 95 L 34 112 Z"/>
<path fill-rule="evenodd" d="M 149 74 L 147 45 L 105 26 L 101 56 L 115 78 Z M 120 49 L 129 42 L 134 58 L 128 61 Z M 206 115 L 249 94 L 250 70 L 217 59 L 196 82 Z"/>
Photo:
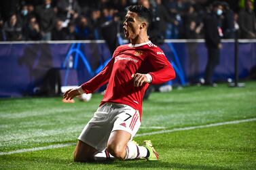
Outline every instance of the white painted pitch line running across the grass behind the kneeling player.
<path fill-rule="evenodd" d="M 161 133 L 171 133 L 174 131 L 187 131 L 187 130 L 191 130 L 191 129 L 202 129 L 202 128 L 206 128 L 206 127 L 217 127 L 217 126 L 221 126 L 221 125 L 238 124 L 238 123 L 251 122 L 251 121 L 256 121 L 256 118 L 243 119 L 243 120 L 238 120 L 238 121 L 228 121 L 228 122 L 222 122 L 222 123 L 212 123 L 212 124 L 208 124 L 208 125 L 200 125 L 200 126 L 194 126 L 194 127 L 181 127 L 181 128 L 170 129 L 170 130 L 153 131 L 153 132 L 149 132 L 149 133 L 141 133 L 141 134 L 136 135 L 135 137 L 144 136 L 144 135 L 156 135 L 156 134 L 161 134 Z M 33 152 L 33 151 L 37 151 L 37 150 L 63 148 L 63 147 L 72 146 L 72 145 L 75 145 L 75 143 L 56 144 L 56 145 L 43 146 L 43 147 L 38 147 L 38 148 L 13 150 L 10 152 L 0 152 L 0 156 L 7 155 L 7 154 L 18 154 L 18 153 L 23 153 L 23 152 Z"/>

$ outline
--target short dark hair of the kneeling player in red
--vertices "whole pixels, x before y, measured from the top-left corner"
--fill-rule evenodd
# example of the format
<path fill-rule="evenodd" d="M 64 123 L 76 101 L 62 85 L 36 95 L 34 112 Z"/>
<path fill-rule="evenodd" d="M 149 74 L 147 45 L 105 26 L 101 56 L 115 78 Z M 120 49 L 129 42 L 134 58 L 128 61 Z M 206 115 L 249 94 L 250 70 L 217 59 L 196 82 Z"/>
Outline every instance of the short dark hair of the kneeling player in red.
<path fill-rule="evenodd" d="M 147 27 L 149 27 L 149 25 L 151 24 L 152 16 L 151 12 L 149 11 L 149 9 L 147 9 L 147 7 L 143 7 L 143 5 L 130 5 L 128 7 L 128 10 L 130 12 L 135 12 L 136 14 L 138 14 L 139 18 L 146 20 L 146 22 L 148 23 Z"/>

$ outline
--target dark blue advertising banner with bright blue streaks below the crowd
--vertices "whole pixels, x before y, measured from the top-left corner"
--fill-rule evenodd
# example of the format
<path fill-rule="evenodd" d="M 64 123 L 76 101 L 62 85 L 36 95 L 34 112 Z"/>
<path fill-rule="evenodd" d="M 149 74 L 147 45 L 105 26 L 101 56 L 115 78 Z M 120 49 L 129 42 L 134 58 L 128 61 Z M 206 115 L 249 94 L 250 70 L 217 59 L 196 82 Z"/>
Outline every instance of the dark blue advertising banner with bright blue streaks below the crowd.
<path fill-rule="evenodd" d="M 207 51 L 204 43 L 164 43 L 160 46 L 177 72 L 172 84 L 186 85 L 204 76 Z M 249 76 L 256 66 L 256 43 L 239 44 L 239 77 Z M 104 42 L 1 43 L 0 97 L 35 94 L 51 69 L 60 73 L 61 85 L 88 81 L 110 60 Z M 223 43 L 215 81 L 234 78 L 234 43 Z"/>

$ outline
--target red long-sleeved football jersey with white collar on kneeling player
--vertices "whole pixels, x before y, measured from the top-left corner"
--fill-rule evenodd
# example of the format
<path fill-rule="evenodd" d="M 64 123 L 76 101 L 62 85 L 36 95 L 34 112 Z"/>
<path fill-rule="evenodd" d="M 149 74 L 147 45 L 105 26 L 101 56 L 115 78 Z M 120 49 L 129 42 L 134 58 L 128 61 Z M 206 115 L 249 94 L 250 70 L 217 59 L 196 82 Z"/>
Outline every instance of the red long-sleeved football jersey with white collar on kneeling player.
<path fill-rule="evenodd" d="M 126 104 L 142 114 L 143 95 L 149 83 L 134 87 L 132 74 L 135 73 L 149 73 L 152 84 L 164 83 L 175 78 L 175 70 L 162 49 L 148 41 L 117 47 L 107 66 L 90 81 L 81 85 L 81 88 L 86 93 L 92 93 L 105 83 L 109 83 L 100 105 L 105 102 Z"/>

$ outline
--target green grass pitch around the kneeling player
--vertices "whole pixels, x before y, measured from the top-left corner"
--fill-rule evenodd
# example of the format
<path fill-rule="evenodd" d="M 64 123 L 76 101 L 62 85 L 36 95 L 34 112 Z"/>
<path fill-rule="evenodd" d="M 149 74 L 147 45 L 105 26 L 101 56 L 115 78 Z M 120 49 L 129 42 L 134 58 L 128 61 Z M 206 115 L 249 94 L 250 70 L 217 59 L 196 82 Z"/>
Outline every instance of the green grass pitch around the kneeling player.
<path fill-rule="evenodd" d="M 0 152 L 75 143 L 101 95 L 88 103 L 60 98 L 0 100 Z M 256 117 L 256 82 L 185 87 L 152 93 L 143 104 L 139 134 Z M 159 162 L 72 163 L 73 146 L 0 156 L 0 169 L 255 169 L 256 122 L 135 137 L 152 140 Z"/>

